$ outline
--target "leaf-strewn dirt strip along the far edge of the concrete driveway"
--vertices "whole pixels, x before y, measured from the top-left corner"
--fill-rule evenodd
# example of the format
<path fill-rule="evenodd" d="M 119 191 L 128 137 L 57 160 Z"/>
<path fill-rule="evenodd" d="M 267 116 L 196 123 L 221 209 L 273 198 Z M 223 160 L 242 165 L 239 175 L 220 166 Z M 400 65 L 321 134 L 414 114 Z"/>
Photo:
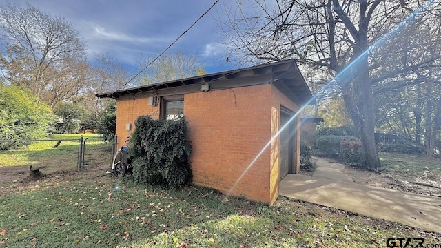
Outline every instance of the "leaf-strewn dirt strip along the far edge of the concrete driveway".
<path fill-rule="evenodd" d="M 368 172 L 349 166 L 347 166 L 346 169 L 346 173 L 351 176 L 354 183 L 382 187 L 385 189 L 395 189 L 401 192 L 441 197 L 441 187 L 433 185 L 433 182 L 429 180 L 424 180 L 422 178 L 403 178 L 398 175 L 391 176 L 389 174 L 378 174 L 376 172 Z M 433 185 L 433 187 L 424 184 Z"/>

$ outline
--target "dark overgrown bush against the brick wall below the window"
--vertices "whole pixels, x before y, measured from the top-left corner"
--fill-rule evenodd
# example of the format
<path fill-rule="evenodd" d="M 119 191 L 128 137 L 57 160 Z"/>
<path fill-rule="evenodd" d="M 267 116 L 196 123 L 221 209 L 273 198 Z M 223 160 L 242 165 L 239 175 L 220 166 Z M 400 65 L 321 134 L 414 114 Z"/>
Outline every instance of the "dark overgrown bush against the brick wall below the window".
<path fill-rule="evenodd" d="M 133 178 L 138 183 L 184 185 L 192 182 L 187 121 L 139 116 L 130 137 Z"/>

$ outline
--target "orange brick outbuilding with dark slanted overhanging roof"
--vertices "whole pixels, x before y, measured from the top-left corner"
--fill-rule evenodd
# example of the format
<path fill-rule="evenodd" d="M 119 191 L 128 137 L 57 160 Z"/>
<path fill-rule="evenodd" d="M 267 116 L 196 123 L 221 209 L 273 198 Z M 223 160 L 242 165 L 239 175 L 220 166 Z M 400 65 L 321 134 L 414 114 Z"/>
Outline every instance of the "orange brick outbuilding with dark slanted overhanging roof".
<path fill-rule="evenodd" d="M 278 183 L 300 167 L 300 115 L 311 92 L 294 60 L 98 94 L 116 99 L 119 146 L 138 116 L 183 114 L 193 183 L 274 203 Z M 298 130 L 298 132 L 297 132 Z"/>

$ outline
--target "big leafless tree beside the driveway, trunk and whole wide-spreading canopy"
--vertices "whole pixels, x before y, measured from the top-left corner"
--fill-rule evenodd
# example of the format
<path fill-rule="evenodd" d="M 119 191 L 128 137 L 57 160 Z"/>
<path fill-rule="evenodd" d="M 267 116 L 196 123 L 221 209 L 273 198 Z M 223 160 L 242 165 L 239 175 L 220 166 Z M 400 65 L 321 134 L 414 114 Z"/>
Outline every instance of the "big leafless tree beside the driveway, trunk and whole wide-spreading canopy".
<path fill-rule="evenodd" d="M 380 167 L 374 90 L 416 76 L 440 58 L 440 3 L 434 1 L 255 0 L 225 13 L 229 19 L 220 22 L 236 56 L 254 63 L 294 58 L 303 70 L 334 78 L 369 169 Z M 423 27 L 427 34 L 420 36 Z M 404 49 L 412 34 L 418 38 Z M 428 50 L 433 56 L 420 56 Z"/>

